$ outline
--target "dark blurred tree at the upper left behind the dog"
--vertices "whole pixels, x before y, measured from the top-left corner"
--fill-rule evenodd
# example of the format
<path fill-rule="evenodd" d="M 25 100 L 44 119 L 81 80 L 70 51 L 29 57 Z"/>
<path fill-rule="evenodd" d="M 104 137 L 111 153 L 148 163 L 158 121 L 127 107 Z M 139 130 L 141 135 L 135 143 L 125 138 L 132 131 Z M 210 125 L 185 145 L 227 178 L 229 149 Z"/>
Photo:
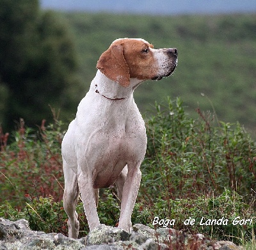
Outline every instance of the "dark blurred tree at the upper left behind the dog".
<path fill-rule="evenodd" d="M 41 12 L 38 0 L 0 0 L 0 6 L 0 96 L 8 93 L 0 100 L 0 123 L 13 127 L 24 118 L 40 124 L 52 118 L 49 105 L 69 111 L 70 86 L 78 80 L 67 25 L 55 13 Z"/>

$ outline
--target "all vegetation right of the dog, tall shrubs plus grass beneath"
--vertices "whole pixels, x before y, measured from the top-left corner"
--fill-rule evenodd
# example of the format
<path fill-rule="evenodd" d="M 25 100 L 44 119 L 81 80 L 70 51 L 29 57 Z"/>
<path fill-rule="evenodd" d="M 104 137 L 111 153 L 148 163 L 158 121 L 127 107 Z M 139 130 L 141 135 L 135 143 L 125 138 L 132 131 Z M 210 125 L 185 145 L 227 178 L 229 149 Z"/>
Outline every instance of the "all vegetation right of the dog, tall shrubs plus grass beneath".
<path fill-rule="evenodd" d="M 166 106 L 156 103 L 156 111 L 147 121 L 138 195 L 151 221 L 157 215 L 175 219 L 177 230 L 240 243 L 252 239 L 253 224 L 198 226 L 203 216 L 229 222 L 255 218 L 256 144 L 250 135 L 239 123 L 219 122 L 200 109 L 198 119 L 188 118 L 180 98 L 168 98 Z M 184 226 L 189 217 L 197 220 L 195 226 Z"/>

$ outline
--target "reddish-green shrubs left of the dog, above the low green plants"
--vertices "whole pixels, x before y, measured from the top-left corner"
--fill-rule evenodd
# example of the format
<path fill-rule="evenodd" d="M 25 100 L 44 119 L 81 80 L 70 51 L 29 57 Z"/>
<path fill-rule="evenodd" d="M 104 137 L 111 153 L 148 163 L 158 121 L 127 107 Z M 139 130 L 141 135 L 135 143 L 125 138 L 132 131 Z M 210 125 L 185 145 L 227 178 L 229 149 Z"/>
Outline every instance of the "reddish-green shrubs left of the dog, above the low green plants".
<path fill-rule="evenodd" d="M 0 203 L 8 200 L 21 208 L 26 194 L 42 197 L 51 195 L 56 201 L 62 199 L 62 123 L 56 120 L 47 128 L 44 123 L 39 132 L 35 132 L 26 128 L 21 119 L 19 130 L 13 133 L 13 143 L 2 146 Z"/>

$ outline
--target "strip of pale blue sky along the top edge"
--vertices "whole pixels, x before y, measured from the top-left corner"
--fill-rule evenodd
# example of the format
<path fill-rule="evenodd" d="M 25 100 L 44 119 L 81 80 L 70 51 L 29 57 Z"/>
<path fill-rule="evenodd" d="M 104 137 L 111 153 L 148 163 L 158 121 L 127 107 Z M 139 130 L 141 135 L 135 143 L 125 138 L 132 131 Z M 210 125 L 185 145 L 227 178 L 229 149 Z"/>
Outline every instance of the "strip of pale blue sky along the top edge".
<path fill-rule="evenodd" d="M 256 0 L 40 0 L 44 9 L 83 12 L 149 13 L 256 13 Z"/>

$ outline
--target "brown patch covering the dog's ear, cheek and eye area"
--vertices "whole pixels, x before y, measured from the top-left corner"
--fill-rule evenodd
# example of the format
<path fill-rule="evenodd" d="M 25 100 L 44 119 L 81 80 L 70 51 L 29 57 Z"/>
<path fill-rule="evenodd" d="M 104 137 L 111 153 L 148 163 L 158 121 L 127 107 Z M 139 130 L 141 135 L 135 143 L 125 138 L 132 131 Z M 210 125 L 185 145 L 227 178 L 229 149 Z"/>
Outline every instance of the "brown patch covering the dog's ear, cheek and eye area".
<path fill-rule="evenodd" d="M 142 39 L 115 40 L 100 56 L 97 68 L 124 87 L 129 86 L 130 78 L 152 79 L 158 68 L 150 48 L 153 45 Z"/>

